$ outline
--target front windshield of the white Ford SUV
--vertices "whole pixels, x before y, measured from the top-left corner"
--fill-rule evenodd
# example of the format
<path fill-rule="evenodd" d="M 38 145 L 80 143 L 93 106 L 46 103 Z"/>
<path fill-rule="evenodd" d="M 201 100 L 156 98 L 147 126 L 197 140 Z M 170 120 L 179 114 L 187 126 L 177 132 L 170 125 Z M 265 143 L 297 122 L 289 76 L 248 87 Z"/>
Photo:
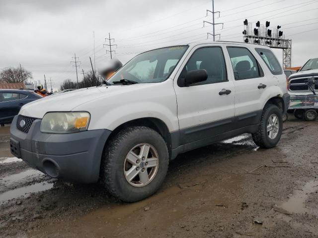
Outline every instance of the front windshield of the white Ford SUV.
<path fill-rule="evenodd" d="M 120 80 L 136 83 L 157 83 L 166 80 L 188 49 L 188 46 L 166 47 L 142 53 L 122 68 L 107 82 L 116 84 Z"/>

